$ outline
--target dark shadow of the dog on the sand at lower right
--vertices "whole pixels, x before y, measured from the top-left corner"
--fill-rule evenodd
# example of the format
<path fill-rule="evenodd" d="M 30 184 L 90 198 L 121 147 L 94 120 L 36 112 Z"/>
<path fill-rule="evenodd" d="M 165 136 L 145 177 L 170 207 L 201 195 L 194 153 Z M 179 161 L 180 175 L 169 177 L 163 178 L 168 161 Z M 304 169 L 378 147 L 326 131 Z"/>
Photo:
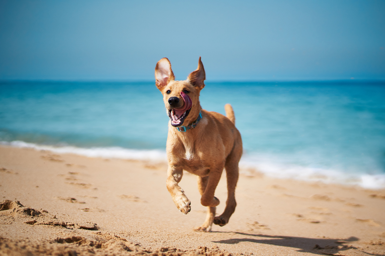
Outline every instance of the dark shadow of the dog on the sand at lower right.
<path fill-rule="evenodd" d="M 251 242 L 251 243 L 260 243 L 260 244 L 273 244 L 277 246 L 285 246 L 298 248 L 298 252 L 304 253 L 313 253 L 320 255 L 333 255 L 340 253 L 341 251 L 346 250 L 357 250 L 357 255 L 375 255 L 375 256 L 385 256 L 385 254 L 372 254 L 361 251 L 360 249 L 355 248 L 354 246 L 347 246 L 346 243 L 358 241 L 359 239 L 355 236 L 351 236 L 347 239 L 331 239 L 331 238 L 306 238 L 306 237 L 298 237 L 298 236 L 270 236 L 270 235 L 262 235 L 262 234 L 248 234 L 242 232 L 221 232 L 221 231 L 213 231 L 218 233 L 234 233 L 242 236 L 251 236 L 251 237 L 259 237 L 251 238 L 251 237 L 243 237 L 243 238 L 231 238 L 224 239 L 219 241 L 212 241 L 213 243 L 222 243 L 222 244 L 238 244 L 241 242 Z M 264 239 L 263 239 L 264 238 Z M 267 239 L 266 239 L 267 238 Z M 269 239 L 270 238 L 270 239 Z M 343 253 L 337 254 L 343 255 Z M 355 254 L 356 255 L 356 254 Z"/>

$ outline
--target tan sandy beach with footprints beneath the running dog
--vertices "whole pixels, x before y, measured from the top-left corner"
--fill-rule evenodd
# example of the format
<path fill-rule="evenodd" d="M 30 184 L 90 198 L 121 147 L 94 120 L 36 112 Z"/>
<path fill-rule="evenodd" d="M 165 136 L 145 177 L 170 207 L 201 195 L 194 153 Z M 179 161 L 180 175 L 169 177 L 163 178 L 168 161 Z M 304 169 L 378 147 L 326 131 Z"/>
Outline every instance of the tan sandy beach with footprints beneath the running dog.
<path fill-rule="evenodd" d="M 165 163 L 0 147 L 0 255 L 385 255 L 385 191 L 239 178 L 228 225 L 196 232 L 196 177 L 166 189 Z M 216 190 L 224 209 L 223 175 Z"/>

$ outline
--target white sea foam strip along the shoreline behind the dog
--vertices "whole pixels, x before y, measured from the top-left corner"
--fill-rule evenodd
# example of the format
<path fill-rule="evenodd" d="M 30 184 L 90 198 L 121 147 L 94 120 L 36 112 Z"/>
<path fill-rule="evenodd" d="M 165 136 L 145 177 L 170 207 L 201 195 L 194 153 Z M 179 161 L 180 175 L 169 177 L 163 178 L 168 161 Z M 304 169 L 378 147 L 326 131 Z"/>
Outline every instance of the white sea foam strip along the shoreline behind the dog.
<path fill-rule="evenodd" d="M 1 145 L 8 145 L 18 148 L 32 148 L 36 150 L 48 150 L 58 154 L 76 154 L 86 157 L 101 157 L 115 159 L 148 160 L 155 162 L 166 162 L 165 150 L 137 150 L 125 149 L 122 147 L 91 147 L 81 148 L 74 146 L 52 146 L 27 143 L 23 141 L 5 142 Z M 300 165 L 285 164 L 278 162 L 272 157 L 255 157 L 244 154 L 239 162 L 240 173 L 253 176 L 256 173 L 263 173 L 268 177 L 287 178 L 303 180 L 307 182 L 323 182 L 329 184 L 356 185 L 368 189 L 384 189 L 385 174 L 367 173 L 345 173 L 339 170 L 303 167 Z"/>

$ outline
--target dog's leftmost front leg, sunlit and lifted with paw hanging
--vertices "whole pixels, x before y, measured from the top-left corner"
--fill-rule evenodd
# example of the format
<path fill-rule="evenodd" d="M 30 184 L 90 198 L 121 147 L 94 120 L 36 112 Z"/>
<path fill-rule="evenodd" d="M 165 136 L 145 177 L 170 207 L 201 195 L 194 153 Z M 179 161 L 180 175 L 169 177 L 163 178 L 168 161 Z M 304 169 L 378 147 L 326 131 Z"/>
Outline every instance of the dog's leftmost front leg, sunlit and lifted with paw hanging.
<path fill-rule="evenodd" d="M 175 167 L 169 165 L 167 170 L 167 190 L 170 192 L 172 200 L 176 207 L 184 214 L 187 214 L 191 210 L 191 202 L 184 194 L 184 191 L 179 187 L 178 183 L 183 176 L 182 167 Z"/>

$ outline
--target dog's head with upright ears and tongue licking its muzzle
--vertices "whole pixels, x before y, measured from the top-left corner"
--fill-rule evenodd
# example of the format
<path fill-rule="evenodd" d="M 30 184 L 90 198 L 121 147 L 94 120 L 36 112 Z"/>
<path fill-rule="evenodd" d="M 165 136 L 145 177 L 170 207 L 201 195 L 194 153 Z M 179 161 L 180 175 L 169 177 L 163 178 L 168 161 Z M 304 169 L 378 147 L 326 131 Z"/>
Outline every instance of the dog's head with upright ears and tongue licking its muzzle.
<path fill-rule="evenodd" d="M 187 80 L 175 81 L 171 70 L 171 63 L 163 58 L 155 67 L 156 87 L 163 94 L 163 101 L 167 114 L 174 127 L 185 126 L 194 122 L 199 115 L 199 92 L 204 87 L 206 74 L 204 73 L 201 57 L 198 68 L 192 71 Z"/>

